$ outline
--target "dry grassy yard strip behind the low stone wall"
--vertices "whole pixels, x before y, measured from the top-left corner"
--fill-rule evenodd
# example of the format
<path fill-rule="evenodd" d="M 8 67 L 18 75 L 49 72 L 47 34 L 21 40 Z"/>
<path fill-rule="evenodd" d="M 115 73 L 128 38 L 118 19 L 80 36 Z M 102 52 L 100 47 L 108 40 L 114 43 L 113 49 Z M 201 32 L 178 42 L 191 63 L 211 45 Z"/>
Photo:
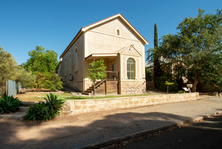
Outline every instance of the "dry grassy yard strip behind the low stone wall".
<path fill-rule="evenodd" d="M 44 100 L 44 97 L 49 94 L 45 93 L 38 93 L 38 92 L 31 92 L 28 94 L 17 94 L 21 101 L 41 101 Z M 75 96 L 71 95 L 70 93 L 55 93 L 66 100 L 82 100 L 82 99 L 102 99 L 102 98 L 120 98 L 120 97 L 129 97 L 129 96 L 150 96 L 150 95 L 158 95 L 158 94 L 134 94 L 134 95 L 107 95 L 107 96 Z"/>

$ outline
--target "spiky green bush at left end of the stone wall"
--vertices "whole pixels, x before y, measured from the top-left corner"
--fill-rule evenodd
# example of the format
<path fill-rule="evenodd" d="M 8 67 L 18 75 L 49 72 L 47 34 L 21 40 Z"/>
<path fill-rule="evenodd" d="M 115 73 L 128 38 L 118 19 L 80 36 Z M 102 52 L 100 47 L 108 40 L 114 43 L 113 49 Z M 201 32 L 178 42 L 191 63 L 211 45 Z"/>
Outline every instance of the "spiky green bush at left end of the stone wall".
<path fill-rule="evenodd" d="M 29 111 L 26 115 L 27 120 L 49 120 L 55 118 L 61 111 L 65 100 L 55 94 L 47 95 L 47 98 L 44 98 L 46 102 L 41 102 L 34 104 L 33 107 L 29 108 Z"/>

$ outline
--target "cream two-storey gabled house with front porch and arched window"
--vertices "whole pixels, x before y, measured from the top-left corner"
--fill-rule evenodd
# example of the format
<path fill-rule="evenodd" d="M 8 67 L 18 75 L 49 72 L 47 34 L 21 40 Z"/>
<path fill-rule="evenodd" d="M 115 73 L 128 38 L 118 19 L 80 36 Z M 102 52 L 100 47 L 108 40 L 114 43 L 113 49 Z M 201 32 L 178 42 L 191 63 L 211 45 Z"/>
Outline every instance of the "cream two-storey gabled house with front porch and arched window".
<path fill-rule="evenodd" d="M 58 74 L 65 85 L 88 94 L 89 63 L 104 59 L 107 78 L 96 83 L 98 94 L 142 93 L 145 82 L 145 44 L 148 41 L 116 14 L 82 27 L 60 56 Z"/>

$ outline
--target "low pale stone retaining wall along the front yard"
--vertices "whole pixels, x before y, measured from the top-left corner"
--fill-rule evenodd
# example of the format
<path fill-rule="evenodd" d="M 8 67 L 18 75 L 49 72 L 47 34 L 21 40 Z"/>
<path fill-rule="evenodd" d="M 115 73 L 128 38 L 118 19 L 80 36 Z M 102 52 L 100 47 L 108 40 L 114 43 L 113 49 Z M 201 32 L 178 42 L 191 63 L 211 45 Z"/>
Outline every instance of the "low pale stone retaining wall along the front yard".
<path fill-rule="evenodd" d="M 118 108 L 146 106 L 160 103 L 195 100 L 199 93 L 165 94 L 149 96 L 131 96 L 121 98 L 67 100 L 62 107 L 63 112 L 71 114 L 104 111 Z"/>

